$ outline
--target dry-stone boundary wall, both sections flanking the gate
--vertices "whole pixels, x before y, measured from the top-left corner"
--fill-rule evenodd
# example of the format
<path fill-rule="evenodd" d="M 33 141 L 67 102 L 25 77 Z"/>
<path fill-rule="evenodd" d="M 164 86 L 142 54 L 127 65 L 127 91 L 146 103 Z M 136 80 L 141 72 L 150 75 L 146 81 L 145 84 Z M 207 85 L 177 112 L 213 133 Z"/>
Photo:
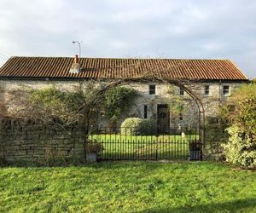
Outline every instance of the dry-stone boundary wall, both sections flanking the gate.
<path fill-rule="evenodd" d="M 221 143 L 228 141 L 226 124 L 218 118 L 207 117 L 205 125 L 204 159 L 218 160 Z M 37 162 L 49 160 L 84 160 L 84 139 L 82 130 L 59 126 L 17 124 L 2 125 L 0 128 L 0 161 L 9 163 Z"/>

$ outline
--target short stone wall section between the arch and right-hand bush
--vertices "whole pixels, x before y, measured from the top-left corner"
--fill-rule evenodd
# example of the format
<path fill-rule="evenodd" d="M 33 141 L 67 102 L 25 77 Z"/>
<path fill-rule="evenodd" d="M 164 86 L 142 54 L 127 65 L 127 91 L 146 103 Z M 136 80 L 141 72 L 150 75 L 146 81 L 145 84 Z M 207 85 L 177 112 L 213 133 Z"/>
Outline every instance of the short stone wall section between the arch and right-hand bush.
<path fill-rule="evenodd" d="M 218 160 L 221 158 L 221 144 L 227 142 L 229 135 L 225 130 L 227 124 L 214 117 L 206 118 L 205 141 L 203 148 L 203 157 L 205 159 Z"/>

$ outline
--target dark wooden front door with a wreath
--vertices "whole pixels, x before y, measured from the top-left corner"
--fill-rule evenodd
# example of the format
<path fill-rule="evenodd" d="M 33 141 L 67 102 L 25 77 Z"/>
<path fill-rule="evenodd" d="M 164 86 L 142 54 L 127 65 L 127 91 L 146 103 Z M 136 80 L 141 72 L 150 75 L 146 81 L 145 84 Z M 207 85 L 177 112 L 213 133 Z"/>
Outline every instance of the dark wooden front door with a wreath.
<path fill-rule="evenodd" d="M 158 133 L 168 133 L 170 125 L 170 113 L 167 104 L 157 106 L 157 131 Z"/>

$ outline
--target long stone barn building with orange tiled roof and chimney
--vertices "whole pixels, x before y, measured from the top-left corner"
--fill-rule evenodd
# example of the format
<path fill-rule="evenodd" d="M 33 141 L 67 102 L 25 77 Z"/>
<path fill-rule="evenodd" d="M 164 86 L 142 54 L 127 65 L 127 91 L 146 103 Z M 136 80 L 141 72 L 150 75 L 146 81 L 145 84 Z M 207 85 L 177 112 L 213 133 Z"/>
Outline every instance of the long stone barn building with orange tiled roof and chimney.
<path fill-rule="evenodd" d="M 216 117 L 218 107 L 241 83 L 248 81 L 230 60 L 14 56 L 0 68 L 1 99 L 4 101 L 9 91 L 20 86 L 43 89 L 54 84 L 60 89 L 73 89 L 91 79 L 101 82 L 129 79 L 124 86 L 137 93 L 131 109 L 119 118 L 118 124 L 128 117 L 151 119 L 160 132 L 175 125 L 198 124 L 198 107 L 188 93 L 178 84 L 138 80 L 150 76 L 183 83 L 201 100 L 209 117 Z M 173 103 L 183 110 L 174 112 L 177 106 Z M 101 125 L 108 124 L 104 115 L 99 119 Z"/>

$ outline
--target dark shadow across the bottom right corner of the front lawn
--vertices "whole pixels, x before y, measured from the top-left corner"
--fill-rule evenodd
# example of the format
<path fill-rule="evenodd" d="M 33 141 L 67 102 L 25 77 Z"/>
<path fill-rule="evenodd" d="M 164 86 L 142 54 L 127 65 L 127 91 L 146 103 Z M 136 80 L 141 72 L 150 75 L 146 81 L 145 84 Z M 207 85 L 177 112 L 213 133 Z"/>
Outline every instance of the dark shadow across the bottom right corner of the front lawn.
<path fill-rule="evenodd" d="M 250 211 L 248 211 L 250 210 Z M 165 209 L 148 209 L 140 211 L 143 212 L 251 212 L 256 210 L 256 198 L 236 199 L 230 202 L 221 204 L 198 204 L 195 206 L 184 206 L 176 208 Z"/>

